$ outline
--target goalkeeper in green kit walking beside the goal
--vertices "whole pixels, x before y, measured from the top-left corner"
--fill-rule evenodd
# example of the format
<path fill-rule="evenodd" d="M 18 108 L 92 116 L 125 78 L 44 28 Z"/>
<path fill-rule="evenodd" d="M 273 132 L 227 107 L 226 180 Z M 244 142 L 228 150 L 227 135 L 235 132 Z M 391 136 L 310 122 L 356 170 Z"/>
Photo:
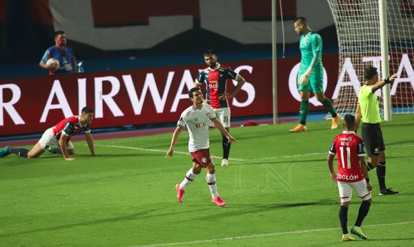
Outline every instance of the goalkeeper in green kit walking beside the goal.
<path fill-rule="evenodd" d="M 311 30 L 304 17 L 298 17 L 293 24 L 295 32 L 300 35 L 299 49 L 301 60 L 297 77 L 297 90 L 301 97 L 300 122 L 290 132 L 306 131 L 306 117 L 309 112 L 311 91 L 333 117 L 331 129 L 338 128 L 341 117 L 335 111 L 331 100 L 324 95 L 324 68 L 322 65 L 322 38 Z"/>

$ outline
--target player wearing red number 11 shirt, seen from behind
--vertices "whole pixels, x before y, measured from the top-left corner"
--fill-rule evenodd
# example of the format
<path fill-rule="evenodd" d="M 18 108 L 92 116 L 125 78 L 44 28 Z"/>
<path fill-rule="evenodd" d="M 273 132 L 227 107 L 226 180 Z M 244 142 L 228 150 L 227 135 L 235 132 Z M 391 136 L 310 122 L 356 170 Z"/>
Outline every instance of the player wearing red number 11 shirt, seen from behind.
<path fill-rule="evenodd" d="M 368 239 L 362 233 L 361 224 L 368 214 L 371 206 L 371 185 L 368 177 L 368 169 L 365 163 L 364 141 L 355 135 L 355 117 L 345 115 L 345 131 L 337 135 L 329 148 L 328 166 L 331 171 L 332 181 L 337 182 L 341 208 L 339 208 L 339 221 L 342 228 L 342 241 L 355 240 L 348 233 L 348 207 L 351 202 L 352 190 L 354 189 L 362 199 L 355 226 L 351 228 L 351 233 L 359 238 Z M 338 154 L 338 171 L 333 170 L 333 158 Z"/>

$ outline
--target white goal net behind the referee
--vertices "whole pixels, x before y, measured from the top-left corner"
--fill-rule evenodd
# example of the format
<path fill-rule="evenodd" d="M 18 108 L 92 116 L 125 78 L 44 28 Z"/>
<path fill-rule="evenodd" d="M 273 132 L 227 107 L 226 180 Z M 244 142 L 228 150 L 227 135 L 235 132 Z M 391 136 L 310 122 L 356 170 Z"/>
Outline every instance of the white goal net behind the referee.
<path fill-rule="evenodd" d="M 337 30 L 339 74 L 333 105 L 340 115 L 355 114 L 357 95 L 364 83 L 364 69 L 381 64 L 380 8 L 378 0 L 328 0 Z M 386 1 L 391 113 L 414 113 L 414 0 Z M 384 90 L 384 88 L 383 88 Z M 377 90 L 384 117 L 382 90 Z M 327 115 L 328 116 L 328 115 Z M 330 116 L 330 115 L 329 115 Z"/>

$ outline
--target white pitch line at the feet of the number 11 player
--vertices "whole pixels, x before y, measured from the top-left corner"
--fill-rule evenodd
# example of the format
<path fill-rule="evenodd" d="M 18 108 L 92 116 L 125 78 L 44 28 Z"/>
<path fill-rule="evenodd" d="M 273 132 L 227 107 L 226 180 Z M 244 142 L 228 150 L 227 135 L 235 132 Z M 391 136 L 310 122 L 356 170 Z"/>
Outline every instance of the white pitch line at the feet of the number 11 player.
<path fill-rule="evenodd" d="M 406 222 L 396 222 L 396 223 L 389 223 L 389 224 L 375 224 L 375 225 L 367 225 L 367 227 L 378 227 L 378 226 L 397 226 L 397 225 L 406 225 L 406 224 L 413 224 L 414 221 L 406 221 Z M 319 228 L 319 229 L 310 229 L 310 230 L 293 230 L 291 232 L 278 232 L 278 233 L 264 233 L 264 234 L 256 234 L 256 235 L 244 235 L 244 236 L 235 236 L 235 237 L 223 237 L 221 239 L 205 239 L 205 240 L 198 240 L 198 241 L 187 241 L 187 242 L 177 242 L 177 243 L 166 243 L 166 244 L 150 244 L 146 246 L 133 246 L 133 247 L 152 247 L 152 246 L 173 246 L 173 245 L 184 245 L 184 244 L 201 244 L 201 243 L 209 243 L 215 241 L 226 241 L 226 240 L 233 240 L 233 239 L 250 239 L 250 238 L 259 238 L 259 237 L 269 237 L 269 236 L 277 236 L 277 235 L 297 235 L 300 233 L 316 233 L 322 232 L 326 230 L 340 230 L 341 228 Z"/>

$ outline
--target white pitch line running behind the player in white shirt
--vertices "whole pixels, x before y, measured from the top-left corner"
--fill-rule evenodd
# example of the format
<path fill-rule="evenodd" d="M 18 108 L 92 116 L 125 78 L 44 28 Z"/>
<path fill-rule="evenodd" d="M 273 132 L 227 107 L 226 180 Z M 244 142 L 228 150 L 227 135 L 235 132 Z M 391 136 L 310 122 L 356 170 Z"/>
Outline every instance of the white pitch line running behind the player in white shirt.
<path fill-rule="evenodd" d="M 136 147 L 130 147 L 130 146 L 119 146 L 119 145 L 99 145 L 96 144 L 95 146 L 103 146 L 103 147 L 109 147 L 109 148 L 121 148 L 121 149 L 131 149 L 131 150 L 141 150 L 141 151 L 148 151 L 148 152 L 163 152 L 166 154 L 167 150 L 160 150 L 160 149 L 152 149 L 152 148 L 136 148 Z M 397 146 L 387 146 L 386 148 L 407 148 L 407 147 L 413 147 L 414 144 L 408 144 L 408 145 L 397 145 Z M 181 152 L 181 151 L 174 151 L 175 154 L 179 155 L 190 155 L 188 152 Z M 255 161 L 255 160 L 266 160 L 266 159 L 284 159 L 284 158 L 293 158 L 293 157 L 303 157 L 303 156 L 313 156 L 313 155 L 326 155 L 328 154 L 328 151 L 326 152 L 313 152 L 308 154 L 300 154 L 300 155 L 284 155 L 284 156 L 278 156 L 278 157 L 263 157 L 263 158 L 256 158 L 256 159 L 237 159 L 237 158 L 228 158 L 231 161 Z M 215 159 L 221 159 L 219 156 L 211 156 Z"/>

